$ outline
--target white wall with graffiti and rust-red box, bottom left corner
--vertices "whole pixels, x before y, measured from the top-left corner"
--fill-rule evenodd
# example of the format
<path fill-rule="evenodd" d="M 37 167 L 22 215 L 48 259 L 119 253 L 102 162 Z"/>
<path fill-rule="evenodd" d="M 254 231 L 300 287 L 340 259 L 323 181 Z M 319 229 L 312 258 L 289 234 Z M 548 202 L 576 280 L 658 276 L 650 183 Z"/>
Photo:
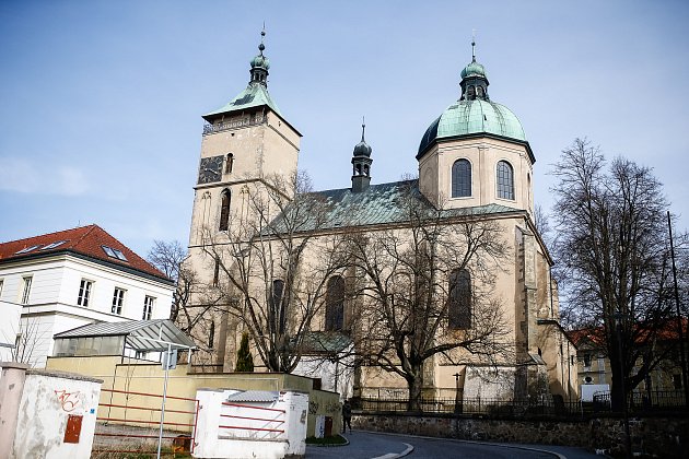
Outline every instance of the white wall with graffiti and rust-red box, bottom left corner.
<path fill-rule="evenodd" d="M 0 458 L 89 458 L 101 380 L 2 363 Z"/>

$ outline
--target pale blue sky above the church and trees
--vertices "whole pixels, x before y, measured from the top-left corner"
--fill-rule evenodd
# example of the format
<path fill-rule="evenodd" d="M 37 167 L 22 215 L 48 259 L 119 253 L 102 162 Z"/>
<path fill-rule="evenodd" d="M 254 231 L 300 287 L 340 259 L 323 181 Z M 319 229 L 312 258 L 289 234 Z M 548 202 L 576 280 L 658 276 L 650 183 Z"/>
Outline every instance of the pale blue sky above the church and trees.
<path fill-rule="evenodd" d="M 1 1 L 0 242 L 91 223 L 144 256 L 187 244 L 203 120 L 247 84 L 266 24 L 269 92 L 314 188 L 417 172 L 428 126 L 486 66 L 522 121 L 546 211 L 562 149 L 654 168 L 689 226 L 689 2 Z"/>

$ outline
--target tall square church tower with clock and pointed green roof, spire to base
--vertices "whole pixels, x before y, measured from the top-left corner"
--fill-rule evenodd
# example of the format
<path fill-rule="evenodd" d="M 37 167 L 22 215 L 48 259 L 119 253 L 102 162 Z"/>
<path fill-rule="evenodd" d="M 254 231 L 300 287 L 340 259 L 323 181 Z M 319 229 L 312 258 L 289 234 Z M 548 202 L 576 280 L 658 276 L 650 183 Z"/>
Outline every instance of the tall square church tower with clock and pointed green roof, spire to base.
<path fill-rule="evenodd" d="M 250 60 L 249 82 L 236 97 L 203 115 L 197 183 L 189 234 L 189 256 L 185 267 L 197 282 L 218 285 L 218 254 L 250 219 L 249 199 L 266 192 L 276 176 L 289 180 L 296 172 L 301 133 L 283 117 L 268 92 L 270 61 L 265 56 L 264 37 L 258 55 Z M 214 248 L 218 247 L 218 250 Z M 214 256 L 212 254 L 215 254 Z M 192 304 L 203 304 L 192 298 Z M 199 308 L 202 310 L 203 308 Z M 206 350 L 197 353 L 202 364 L 234 369 L 235 325 L 227 313 L 205 314 Z"/>

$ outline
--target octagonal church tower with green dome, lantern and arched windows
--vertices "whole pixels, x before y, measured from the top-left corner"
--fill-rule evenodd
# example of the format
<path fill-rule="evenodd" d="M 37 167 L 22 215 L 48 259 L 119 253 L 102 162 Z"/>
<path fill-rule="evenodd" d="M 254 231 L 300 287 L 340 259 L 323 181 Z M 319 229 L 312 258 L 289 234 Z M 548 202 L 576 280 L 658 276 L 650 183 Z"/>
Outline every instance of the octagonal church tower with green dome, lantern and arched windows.
<path fill-rule="evenodd" d="M 421 139 L 421 191 L 436 208 L 499 204 L 533 216 L 536 157 L 522 123 L 507 107 L 491 101 L 486 69 L 474 51 L 460 76 L 459 99 Z"/>

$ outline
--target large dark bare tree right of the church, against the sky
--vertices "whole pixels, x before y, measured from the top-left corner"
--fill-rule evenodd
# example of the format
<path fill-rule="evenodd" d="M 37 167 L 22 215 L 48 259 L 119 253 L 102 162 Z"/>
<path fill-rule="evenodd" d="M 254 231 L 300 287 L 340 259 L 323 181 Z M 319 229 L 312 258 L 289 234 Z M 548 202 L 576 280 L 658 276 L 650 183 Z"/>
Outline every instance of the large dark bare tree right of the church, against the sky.
<path fill-rule="evenodd" d="M 665 213 L 652 170 L 576 139 L 554 165 L 557 258 L 568 308 L 604 331 L 612 402 L 643 381 L 670 351 L 659 333 L 674 315 Z M 686 243 L 686 235 L 678 239 Z"/>

